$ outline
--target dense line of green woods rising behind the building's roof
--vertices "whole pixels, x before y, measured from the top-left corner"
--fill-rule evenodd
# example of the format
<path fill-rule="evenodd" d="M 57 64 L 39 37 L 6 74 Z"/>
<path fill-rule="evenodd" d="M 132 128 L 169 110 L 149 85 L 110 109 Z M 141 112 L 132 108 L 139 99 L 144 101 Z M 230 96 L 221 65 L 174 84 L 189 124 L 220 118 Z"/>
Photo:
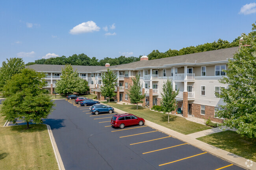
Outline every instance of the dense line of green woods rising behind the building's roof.
<path fill-rule="evenodd" d="M 215 49 L 223 49 L 223 48 L 231 48 L 239 46 L 239 39 L 241 37 L 237 37 L 233 42 L 228 42 L 227 40 L 219 39 L 217 42 L 211 42 L 211 43 L 205 43 L 198 46 L 189 46 L 186 48 L 182 48 L 180 50 L 176 49 L 169 49 L 165 52 L 160 52 L 157 49 L 153 50 L 151 53 L 149 53 L 148 60 L 153 60 L 157 58 L 165 58 L 165 57 L 173 57 L 178 55 L 186 55 L 186 54 L 192 54 L 192 53 L 200 53 L 204 51 L 211 51 Z M 119 64 L 127 64 L 131 62 L 139 61 L 142 55 L 139 57 L 105 57 L 101 60 L 98 60 L 96 57 L 88 57 L 85 54 L 74 54 L 72 56 L 66 57 L 54 57 L 54 58 L 42 58 L 39 60 L 35 60 L 35 62 L 29 62 L 26 65 L 32 65 L 32 64 L 55 64 L 55 65 L 65 65 L 65 64 L 71 64 L 76 66 L 105 66 L 106 63 L 109 63 L 111 66 L 119 65 Z"/>

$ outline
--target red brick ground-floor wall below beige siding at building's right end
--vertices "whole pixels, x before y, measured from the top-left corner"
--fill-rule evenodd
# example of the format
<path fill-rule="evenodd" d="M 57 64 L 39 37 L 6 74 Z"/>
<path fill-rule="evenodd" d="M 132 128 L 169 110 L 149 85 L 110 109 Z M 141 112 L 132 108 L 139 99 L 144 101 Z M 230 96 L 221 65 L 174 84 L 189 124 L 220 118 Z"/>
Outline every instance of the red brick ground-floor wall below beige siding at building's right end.
<path fill-rule="evenodd" d="M 211 121 L 215 122 L 223 122 L 222 119 L 218 119 L 214 117 L 214 107 L 213 106 L 205 106 L 204 107 L 204 115 L 201 115 L 201 105 L 200 104 L 192 104 L 192 115 L 201 119 L 211 119 Z"/>

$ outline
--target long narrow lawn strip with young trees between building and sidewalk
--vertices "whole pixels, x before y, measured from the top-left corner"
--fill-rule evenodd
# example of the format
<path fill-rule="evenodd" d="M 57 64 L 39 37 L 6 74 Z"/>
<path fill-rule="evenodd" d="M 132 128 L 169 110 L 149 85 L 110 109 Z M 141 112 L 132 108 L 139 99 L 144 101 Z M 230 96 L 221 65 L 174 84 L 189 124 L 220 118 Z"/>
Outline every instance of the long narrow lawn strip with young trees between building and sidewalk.
<path fill-rule="evenodd" d="M 136 110 L 135 105 L 125 105 L 125 104 L 122 105 L 122 104 L 116 104 L 114 102 L 110 102 L 106 104 L 109 104 L 110 106 L 113 106 L 117 109 L 123 110 L 124 112 L 132 113 L 139 117 L 143 117 L 148 121 L 154 122 L 156 124 L 160 124 L 161 126 L 169 128 L 171 130 L 175 130 L 176 132 L 180 132 L 185 135 L 210 129 L 210 127 L 208 126 L 187 121 L 183 117 L 178 117 L 171 114 L 170 114 L 170 123 L 168 123 L 167 114 L 154 112 L 152 110 L 149 110 L 143 107 L 138 107 L 138 110 Z"/>

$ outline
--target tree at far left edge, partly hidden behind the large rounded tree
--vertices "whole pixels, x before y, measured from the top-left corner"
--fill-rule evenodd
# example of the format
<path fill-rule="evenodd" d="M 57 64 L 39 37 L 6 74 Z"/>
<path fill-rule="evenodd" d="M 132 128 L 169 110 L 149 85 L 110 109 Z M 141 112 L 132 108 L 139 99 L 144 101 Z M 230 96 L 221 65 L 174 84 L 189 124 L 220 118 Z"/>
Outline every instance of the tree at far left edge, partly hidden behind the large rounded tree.
<path fill-rule="evenodd" d="M 6 84 L 6 81 L 11 79 L 11 77 L 17 73 L 20 73 L 21 69 L 25 67 L 22 58 L 10 58 L 6 59 L 2 63 L 2 67 L 0 68 L 0 91 Z"/>

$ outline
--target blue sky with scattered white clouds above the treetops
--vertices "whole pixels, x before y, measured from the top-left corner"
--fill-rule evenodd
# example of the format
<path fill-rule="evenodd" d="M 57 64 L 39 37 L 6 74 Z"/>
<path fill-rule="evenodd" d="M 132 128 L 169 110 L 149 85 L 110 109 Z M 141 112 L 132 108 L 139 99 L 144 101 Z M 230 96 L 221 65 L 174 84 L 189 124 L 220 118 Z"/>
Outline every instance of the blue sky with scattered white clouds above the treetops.
<path fill-rule="evenodd" d="M 85 53 L 147 55 L 249 33 L 256 3 L 247 0 L 8 0 L 0 2 L 0 63 Z"/>

